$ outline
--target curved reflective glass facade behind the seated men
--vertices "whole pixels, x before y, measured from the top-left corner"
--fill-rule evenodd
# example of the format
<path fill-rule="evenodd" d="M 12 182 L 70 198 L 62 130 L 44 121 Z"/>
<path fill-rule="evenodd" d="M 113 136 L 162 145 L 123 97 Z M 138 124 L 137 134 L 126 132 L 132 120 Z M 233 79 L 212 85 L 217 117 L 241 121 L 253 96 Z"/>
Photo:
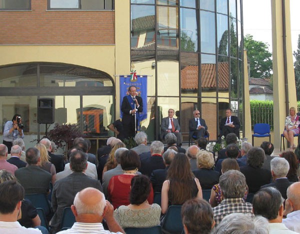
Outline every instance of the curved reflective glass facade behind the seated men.
<path fill-rule="evenodd" d="M 225 109 L 243 121 L 241 0 L 131 0 L 131 62 L 148 75 L 149 140 L 172 108 L 183 140 L 198 109 L 217 139 Z M 157 118 L 158 117 L 158 118 Z M 243 137 L 243 126 L 240 137 Z"/>

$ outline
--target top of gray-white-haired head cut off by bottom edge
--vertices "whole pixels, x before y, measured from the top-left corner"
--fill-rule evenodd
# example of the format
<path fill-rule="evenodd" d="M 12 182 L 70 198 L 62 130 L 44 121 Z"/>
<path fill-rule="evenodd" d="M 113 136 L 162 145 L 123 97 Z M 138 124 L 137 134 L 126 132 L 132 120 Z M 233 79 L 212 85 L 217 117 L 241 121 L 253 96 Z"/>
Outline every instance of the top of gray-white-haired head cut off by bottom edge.
<path fill-rule="evenodd" d="M 214 234 L 269 234 L 269 225 L 261 216 L 233 213 L 224 217 Z"/>

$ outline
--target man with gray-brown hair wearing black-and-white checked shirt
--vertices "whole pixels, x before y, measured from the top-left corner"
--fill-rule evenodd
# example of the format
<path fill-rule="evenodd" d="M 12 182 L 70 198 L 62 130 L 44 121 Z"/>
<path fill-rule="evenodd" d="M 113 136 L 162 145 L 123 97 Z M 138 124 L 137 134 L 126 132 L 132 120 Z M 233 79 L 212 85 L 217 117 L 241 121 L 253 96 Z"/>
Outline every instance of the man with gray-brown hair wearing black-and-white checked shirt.
<path fill-rule="evenodd" d="M 215 226 L 231 213 L 251 214 L 252 205 L 242 199 L 247 188 L 246 179 L 242 173 L 236 170 L 225 172 L 219 178 L 219 186 L 224 199 L 218 206 L 212 208 Z"/>

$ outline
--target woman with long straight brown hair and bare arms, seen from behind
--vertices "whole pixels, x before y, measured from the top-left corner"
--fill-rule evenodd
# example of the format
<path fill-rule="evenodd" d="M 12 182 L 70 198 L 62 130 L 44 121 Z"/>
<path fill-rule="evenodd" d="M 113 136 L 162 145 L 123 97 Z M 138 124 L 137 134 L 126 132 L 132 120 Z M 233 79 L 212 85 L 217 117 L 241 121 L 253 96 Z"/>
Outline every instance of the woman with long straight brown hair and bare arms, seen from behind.
<path fill-rule="evenodd" d="M 177 153 L 162 184 L 161 213 L 165 214 L 169 205 L 182 205 L 192 198 L 202 199 L 202 189 L 190 170 L 188 158 L 183 153 Z"/>

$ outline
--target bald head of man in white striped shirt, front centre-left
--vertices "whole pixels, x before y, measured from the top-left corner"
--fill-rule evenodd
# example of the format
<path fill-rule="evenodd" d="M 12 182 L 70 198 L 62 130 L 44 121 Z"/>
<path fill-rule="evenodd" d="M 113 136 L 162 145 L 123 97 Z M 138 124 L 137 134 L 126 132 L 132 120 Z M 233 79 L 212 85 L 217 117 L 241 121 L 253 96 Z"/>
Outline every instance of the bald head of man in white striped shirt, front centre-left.
<path fill-rule="evenodd" d="M 77 222 L 100 223 L 105 206 L 104 195 L 99 190 L 88 187 L 76 194 L 71 209 Z"/>

